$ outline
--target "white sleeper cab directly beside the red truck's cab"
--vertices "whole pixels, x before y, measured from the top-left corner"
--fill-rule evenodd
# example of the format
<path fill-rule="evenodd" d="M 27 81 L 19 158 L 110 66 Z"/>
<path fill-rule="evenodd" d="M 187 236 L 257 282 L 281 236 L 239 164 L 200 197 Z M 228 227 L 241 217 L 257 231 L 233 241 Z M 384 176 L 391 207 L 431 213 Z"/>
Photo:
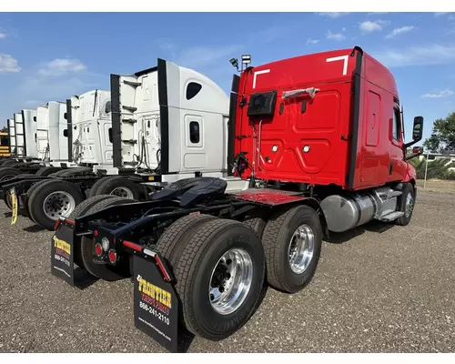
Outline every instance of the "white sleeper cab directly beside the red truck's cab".
<path fill-rule="evenodd" d="M 114 167 L 155 172 L 161 183 L 227 177 L 229 96 L 197 71 L 164 59 L 111 75 Z"/>

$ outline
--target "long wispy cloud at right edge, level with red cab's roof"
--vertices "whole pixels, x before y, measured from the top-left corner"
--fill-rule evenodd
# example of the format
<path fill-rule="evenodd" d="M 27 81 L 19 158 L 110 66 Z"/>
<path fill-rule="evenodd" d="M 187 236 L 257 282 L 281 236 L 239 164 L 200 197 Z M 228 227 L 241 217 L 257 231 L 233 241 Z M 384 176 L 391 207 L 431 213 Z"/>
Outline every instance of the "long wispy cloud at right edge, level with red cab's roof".
<path fill-rule="evenodd" d="M 455 45 L 410 46 L 371 52 L 385 66 L 434 66 L 455 62 Z"/>

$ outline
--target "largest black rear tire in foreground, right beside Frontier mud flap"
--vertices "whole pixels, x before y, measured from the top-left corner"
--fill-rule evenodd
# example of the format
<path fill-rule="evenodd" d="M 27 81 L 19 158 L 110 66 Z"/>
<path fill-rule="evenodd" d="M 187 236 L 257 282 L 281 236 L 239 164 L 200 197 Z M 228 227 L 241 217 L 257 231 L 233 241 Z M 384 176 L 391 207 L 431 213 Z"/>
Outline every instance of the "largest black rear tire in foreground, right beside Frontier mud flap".
<path fill-rule="evenodd" d="M 180 320 L 197 336 L 215 341 L 226 339 L 248 321 L 257 306 L 264 282 L 264 250 L 256 233 L 235 220 L 207 220 L 197 230 L 183 248 L 174 269 L 176 290 L 182 303 Z M 238 308 L 221 314 L 212 306 L 209 287 L 218 260 L 231 248 L 237 248 L 241 257 L 250 260 L 250 284 Z M 227 266 L 235 264 L 227 260 Z M 245 285 L 246 281 L 243 282 Z"/>

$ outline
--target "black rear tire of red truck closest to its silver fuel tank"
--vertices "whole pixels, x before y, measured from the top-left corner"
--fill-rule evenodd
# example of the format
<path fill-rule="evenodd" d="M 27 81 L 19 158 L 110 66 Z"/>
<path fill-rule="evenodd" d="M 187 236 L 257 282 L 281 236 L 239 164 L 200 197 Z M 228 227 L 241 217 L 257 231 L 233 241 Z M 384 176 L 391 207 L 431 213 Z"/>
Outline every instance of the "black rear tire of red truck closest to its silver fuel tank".
<path fill-rule="evenodd" d="M 305 233 L 304 247 L 312 237 L 312 253 L 302 257 L 302 260 L 308 257 L 306 266 L 303 266 L 306 267 L 305 270 L 298 271 L 296 268 L 295 271 L 289 262 L 289 251 L 293 248 L 293 236 L 300 227 L 300 231 Z M 318 213 L 308 206 L 279 209 L 268 220 L 262 241 L 268 284 L 288 293 L 296 293 L 305 288 L 316 272 L 322 247 L 322 227 Z M 298 248 L 297 244 L 296 247 Z"/>

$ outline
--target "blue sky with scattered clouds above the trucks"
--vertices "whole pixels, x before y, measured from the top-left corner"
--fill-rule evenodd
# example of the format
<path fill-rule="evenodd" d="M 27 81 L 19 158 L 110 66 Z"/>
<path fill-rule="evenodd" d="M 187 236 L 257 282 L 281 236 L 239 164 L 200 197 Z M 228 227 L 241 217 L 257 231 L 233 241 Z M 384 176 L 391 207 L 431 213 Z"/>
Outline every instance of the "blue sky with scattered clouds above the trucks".
<path fill-rule="evenodd" d="M 429 136 L 435 118 L 455 111 L 455 13 L 1 13 L 0 126 L 22 108 L 108 89 L 110 73 L 157 57 L 228 92 L 232 56 L 259 65 L 354 45 L 396 77 L 407 130 L 421 115 Z"/>

